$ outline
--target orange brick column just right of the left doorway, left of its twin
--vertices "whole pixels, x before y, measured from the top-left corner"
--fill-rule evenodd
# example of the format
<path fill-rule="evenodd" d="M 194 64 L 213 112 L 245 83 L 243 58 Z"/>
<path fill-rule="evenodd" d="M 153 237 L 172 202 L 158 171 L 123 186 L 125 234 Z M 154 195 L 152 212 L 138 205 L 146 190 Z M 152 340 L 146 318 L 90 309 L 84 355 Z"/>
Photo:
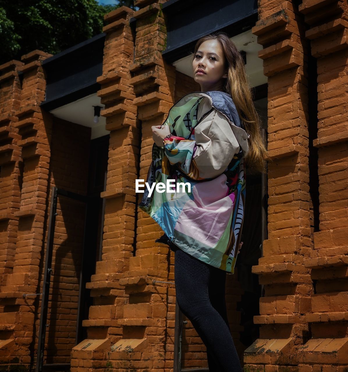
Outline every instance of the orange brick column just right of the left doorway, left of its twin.
<path fill-rule="evenodd" d="M 104 16 L 107 25 L 102 75 L 97 78 L 101 89 L 98 96 L 105 108 L 106 129 L 110 131 L 107 185 L 105 198 L 102 260 L 86 288 L 94 297 L 89 319 L 82 322 L 88 339 L 72 349 L 71 371 L 88 372 L 112 367 L 114 345 L 126 337 L 124 331 L 125 293 L 120 279 L 129 270 L 133 257 L 136 218 L 135 179 L 139 153 L 139 124 L 135 94 L 130 84 L 130 65 L 133 63 L 134 42 L 130 28 L 133 10 L 122 6 Z M 135 346 L 133 345 L 133 348 Z M 123 359 L 124 353 L 120 353 Z M 112 371 L 113 369 L 108 369 Z"/>

